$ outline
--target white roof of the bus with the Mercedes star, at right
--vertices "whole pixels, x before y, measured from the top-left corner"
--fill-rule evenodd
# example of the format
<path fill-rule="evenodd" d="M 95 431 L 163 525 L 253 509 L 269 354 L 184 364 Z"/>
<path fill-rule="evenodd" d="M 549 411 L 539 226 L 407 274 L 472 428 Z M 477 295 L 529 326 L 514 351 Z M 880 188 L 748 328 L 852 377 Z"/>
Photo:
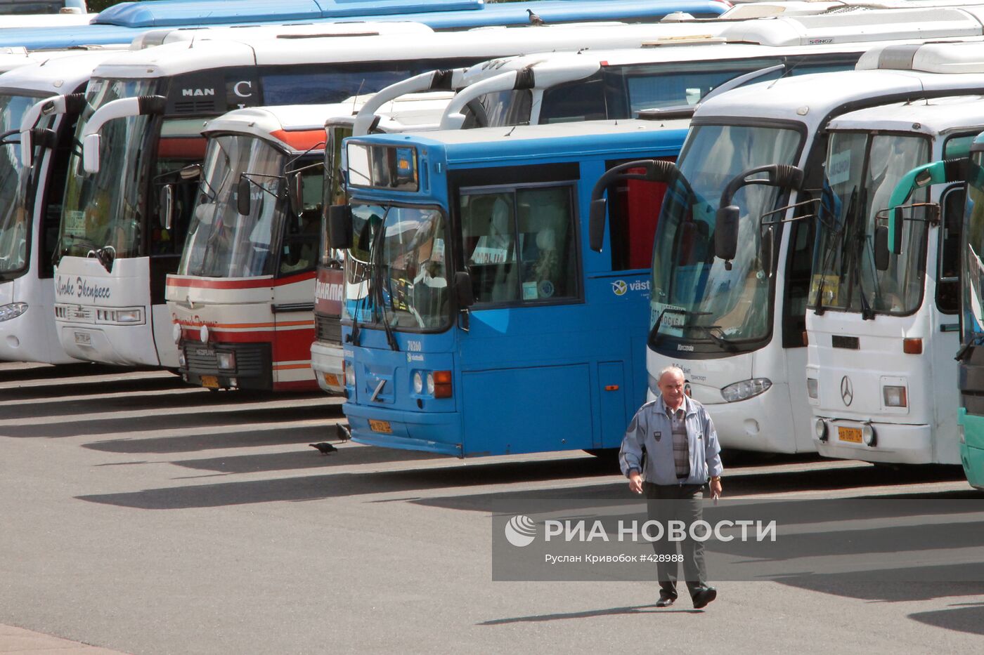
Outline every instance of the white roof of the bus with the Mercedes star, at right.
<path fill-rule="evenodd" d="M 858 109 L 830 121 L 830 130 L 890 130 L 945 135 L 967 127 L 984 130 L 984 95 L 948 95 Z"/>

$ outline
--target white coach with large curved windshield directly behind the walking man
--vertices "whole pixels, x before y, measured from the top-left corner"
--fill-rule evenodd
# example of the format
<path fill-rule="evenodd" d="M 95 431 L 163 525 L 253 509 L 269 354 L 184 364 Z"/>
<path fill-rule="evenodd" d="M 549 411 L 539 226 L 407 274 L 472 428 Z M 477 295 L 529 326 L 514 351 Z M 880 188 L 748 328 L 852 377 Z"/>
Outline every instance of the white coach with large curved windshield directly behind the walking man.
<path fill-rule="evenodd" d="M 984 90 L 984 74 L 949 73 L 975 65 L 954 65 L 946 49 L 924 66 L 908 63 L 925 47 L 878 46 L 861 70 L 734 89 L 695 113 L 678 167 L 667 173 L 670 200 L 656 227 L 646 359 L 653 395 L 656 372 L 670 364 L 684 370 L 693 396 L 712 406 L 722 446 L 816 449 L 804 337 L 817 225 L 792 220 L 793 212 L 822 202 L 833 118 Z M 789 187 L 789 204 L 799 209 L 774 212 L 787 205 Z M 711 235 L 712 256 L 680 253 L 681 239 L 695 231 Z"/>

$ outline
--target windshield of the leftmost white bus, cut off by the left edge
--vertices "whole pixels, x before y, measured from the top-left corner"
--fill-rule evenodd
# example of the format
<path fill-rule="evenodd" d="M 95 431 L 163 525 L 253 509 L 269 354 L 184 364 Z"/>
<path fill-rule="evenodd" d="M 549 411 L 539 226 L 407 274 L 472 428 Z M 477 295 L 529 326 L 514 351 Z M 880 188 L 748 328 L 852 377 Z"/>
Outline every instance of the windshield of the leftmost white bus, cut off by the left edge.
<path fill-rule="evenodd" d="M 25 112 L 39 98 L 30 95 L 0 95 L 0 135 L 19 130 Z M 27 268 L 28 216 L 26 191 L 28 180 L 21 161 L 21 144 L 14 132 L 0 146 L 0 275 Z"/>

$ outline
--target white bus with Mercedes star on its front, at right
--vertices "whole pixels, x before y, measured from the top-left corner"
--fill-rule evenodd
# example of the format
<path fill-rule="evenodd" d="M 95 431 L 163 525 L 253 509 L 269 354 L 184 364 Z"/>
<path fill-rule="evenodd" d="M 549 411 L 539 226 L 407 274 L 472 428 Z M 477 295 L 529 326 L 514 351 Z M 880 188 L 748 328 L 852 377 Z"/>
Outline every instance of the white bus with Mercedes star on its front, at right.
<path fill-rule="evenodd" d="M 918 52 L 921 61 L 935 54 Z M 892 191 L 909 169 L 966 160 L 984 130 L 984 100 L 967 95 L 860 109 L 834 118 L 827 130 L 829 191 L 818 208 L 806 315 L 807 395 L 818 450 L 872 462 L 957 464 L 953 354 L 963 181 L 910 196 L 897 255 L 876 233 L 888 230 Z"/>

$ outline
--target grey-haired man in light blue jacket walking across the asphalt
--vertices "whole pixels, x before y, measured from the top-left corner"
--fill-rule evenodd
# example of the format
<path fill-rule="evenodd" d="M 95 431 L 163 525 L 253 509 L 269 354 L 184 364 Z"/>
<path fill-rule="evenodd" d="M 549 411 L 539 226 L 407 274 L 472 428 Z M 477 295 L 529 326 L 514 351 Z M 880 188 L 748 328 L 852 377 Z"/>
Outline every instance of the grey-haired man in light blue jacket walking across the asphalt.
<path fill-rule="evenodd" d="M 708 480 L 711 496 L 717 499 L 721 494 L 721 448 L 704 405 L 684 393 L 680 368 L 660 371 L 656 385 L 660 395 L 636 412 L 622 440 L 619 462 L 629 489 L 646 493 L 649 520 L 663 528 L 668 521 L 683 521 L 686 526 L 686 537 L 680 542 L 684 579 L 694 607 L 701 609 L 717 597 L 717 590 L 707 586 L 704 542 L 691 539 L 689 528 L 702 518 L 702 492 Z M 652 548 L 659 578 L 656 607 L 669 607 L 677 598 L 680 555 L 665 529 Z"/>

